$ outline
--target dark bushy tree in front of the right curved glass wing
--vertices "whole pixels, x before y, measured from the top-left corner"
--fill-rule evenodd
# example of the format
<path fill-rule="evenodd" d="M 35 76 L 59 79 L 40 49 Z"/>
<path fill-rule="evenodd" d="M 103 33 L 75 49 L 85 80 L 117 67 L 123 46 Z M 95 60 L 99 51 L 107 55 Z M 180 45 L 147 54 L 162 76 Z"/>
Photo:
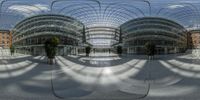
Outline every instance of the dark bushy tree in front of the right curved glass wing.
<path fill-rule="evenodd" d="M 145 43 L 145 52 L 149 59 L 152 59 L 155 55 L 156 45 L 152 42 Z"/>

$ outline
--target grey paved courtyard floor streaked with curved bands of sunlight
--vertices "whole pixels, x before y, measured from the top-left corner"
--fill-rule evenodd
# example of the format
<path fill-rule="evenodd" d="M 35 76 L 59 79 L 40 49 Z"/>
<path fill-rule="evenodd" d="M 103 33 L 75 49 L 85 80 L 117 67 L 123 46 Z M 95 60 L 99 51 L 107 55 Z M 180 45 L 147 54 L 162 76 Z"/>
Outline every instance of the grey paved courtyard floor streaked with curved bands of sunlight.
<path fill-rule="evenodd" d="M 1 100 L 199 100 L 200 59 L 92 54 L 44 56 L 1 52 Z"/>

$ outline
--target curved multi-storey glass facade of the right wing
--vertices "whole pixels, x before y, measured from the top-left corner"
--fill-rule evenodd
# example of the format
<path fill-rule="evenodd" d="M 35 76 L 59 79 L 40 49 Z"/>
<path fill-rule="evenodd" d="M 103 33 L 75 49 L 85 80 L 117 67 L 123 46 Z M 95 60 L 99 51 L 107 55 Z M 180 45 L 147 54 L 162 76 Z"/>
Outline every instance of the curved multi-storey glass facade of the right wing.
<path fill-rule="evenodd" d="M 120 28 L 126 53 L 144 54 L 144 45 L 149 41 L 156 44 L 157 54 L 179 53 L 187 48 L 186 29 L 168 19 L 137 18 Z"/>

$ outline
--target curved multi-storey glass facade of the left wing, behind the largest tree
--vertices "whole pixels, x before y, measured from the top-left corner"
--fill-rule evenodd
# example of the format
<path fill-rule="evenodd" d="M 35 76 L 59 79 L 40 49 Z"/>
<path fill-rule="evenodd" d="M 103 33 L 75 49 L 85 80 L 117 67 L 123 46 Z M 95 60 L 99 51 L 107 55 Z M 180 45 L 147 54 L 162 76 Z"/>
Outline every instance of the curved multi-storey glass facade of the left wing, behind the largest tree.
<path fill-rule="evenodd" d="M 17 51 L 32 55 L 44 55 L 43 45 L 53 36 L 60 40 L 58 54 L 68 49 L 77 53 L 84 40 L 84 25 L 74 18 L 62 15 L 37 15 L 18 23 L 13 30 L 13 44 Z M 42 51 L 42 53 L 40 52 Z M 61 51 L 61 52 L 60 52 Z"/>

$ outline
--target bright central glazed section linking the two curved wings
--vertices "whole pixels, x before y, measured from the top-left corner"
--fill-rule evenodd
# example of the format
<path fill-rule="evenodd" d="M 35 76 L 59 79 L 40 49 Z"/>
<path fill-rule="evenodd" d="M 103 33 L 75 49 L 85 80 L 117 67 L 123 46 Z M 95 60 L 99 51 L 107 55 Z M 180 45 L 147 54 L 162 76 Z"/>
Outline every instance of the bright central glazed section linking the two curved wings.
<path fill-rule="evenodd" d="M 86 40 L 94 48 L 110 48 L 119 42 L 119 28 L 90 27 L 86 29 Z"/>

